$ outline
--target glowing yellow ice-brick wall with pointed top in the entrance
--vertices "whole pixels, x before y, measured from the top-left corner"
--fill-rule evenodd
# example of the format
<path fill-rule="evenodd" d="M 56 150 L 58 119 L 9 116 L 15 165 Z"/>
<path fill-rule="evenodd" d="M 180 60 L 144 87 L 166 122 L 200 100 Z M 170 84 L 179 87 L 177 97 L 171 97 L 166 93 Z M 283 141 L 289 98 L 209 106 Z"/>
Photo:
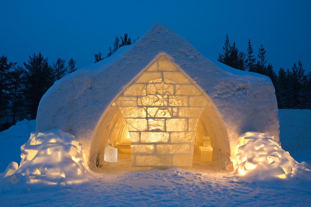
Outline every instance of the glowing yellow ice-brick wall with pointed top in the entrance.
<path fill-rule="evenodd" d="M 164 56 L 119 96 L 115 104 L 129 129 L 132 167 L 192 167 L 198 118 L 208 102 Z"/>

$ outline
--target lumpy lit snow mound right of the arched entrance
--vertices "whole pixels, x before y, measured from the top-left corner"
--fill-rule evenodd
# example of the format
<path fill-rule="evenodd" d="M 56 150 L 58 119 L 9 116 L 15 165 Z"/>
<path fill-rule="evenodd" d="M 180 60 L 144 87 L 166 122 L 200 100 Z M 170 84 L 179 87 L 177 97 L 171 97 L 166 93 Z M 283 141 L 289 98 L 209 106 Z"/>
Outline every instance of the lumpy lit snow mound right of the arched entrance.
<path fill-rule="evenodd" d="M 235 174 L 256 180 L 289 179 L 299 175 L 311 179 L 310 166 L 305 162 L 299 164 L 273 138 L 267 133 L 242 134 L 237 155 L 230 157 Z"/>

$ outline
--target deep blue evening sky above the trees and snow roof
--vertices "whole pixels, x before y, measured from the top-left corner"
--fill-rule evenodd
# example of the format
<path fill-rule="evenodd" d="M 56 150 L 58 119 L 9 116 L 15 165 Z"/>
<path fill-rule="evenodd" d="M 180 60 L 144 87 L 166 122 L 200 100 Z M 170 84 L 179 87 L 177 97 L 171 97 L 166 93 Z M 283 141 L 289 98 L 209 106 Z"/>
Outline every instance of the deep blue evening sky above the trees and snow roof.
<path fill-rule="evenodd" d="M 23 65 L 41 52 L 53 64 L 73 57 L 78 68 L 108 53 L 114 38 L 141 37 L 154 23 L 173 29 L 204 56 L 217 59 L 226 34 L 257 56 L 260 44 L 276 72 L 300 59 L 311 70 L 311 1 L 2 1 L 0 55 Z"/>

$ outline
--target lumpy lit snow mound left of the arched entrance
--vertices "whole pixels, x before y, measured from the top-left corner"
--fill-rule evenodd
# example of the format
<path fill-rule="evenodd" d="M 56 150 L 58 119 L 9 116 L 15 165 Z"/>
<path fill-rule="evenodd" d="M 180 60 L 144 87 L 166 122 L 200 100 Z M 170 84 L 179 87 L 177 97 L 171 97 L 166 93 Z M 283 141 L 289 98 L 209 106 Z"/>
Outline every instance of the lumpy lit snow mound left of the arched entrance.
<path fill-rule="evenodd" d="M 31 133 L 21 146 L 21 165 L 17 170 L 15 166 L 14 162 L 9 164 L 2 175 L 2 183 L 22 181 L 65 186 L 89 178 L 82 144 L 58 128 Z"/>

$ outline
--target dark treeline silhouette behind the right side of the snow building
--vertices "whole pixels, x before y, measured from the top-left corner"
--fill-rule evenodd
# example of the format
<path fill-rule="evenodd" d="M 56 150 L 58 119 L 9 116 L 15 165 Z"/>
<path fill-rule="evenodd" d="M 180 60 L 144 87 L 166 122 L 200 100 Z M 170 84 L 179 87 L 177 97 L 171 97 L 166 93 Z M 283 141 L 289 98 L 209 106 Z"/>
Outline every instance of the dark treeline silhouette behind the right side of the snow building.
<path fill-rule="evenodd" d="M 239 70 L 247 70 L 270 77 L 276 93 L 279 109 L 311 109 L 311 72 L 305 74 L 299 60 L 290 69 L 280 68 L 278 74 L 266 59 L 266 50 L 261 45 L 257 58 L 253 54 L 252 43 L 248 40 L 247 52 L 239 51 L 235 42 L 230 44 L 228 35 L 225 38 L 223 52 L 218 61 Z"/>

